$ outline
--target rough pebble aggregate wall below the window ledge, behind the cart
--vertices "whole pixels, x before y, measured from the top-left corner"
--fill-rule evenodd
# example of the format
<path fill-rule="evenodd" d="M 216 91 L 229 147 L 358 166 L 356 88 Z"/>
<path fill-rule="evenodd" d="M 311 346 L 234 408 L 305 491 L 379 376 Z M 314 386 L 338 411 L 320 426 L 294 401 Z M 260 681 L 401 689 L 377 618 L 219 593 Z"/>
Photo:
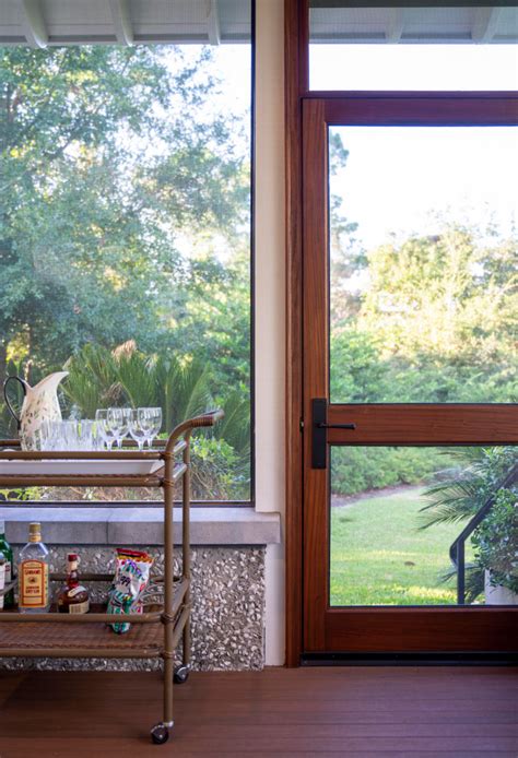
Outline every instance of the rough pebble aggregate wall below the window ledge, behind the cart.
<path fill-rule="evenodd" d="M 49 546 L 50 571 L 64 571 L 67 553 L 78 552 L 80 571 L 111 572 L 111 547 Z M 153 571 L 163 572 L 163 555 L 142 547 L 155 559 Z M 14 548 L 17 560 L 17 548 Z M 250 671 L 263 666 L 264 548 L 193 547 L 192 668 L 195 671 Z M 95 587 L 97 585 L 97 587 Z M 57 588 L 54 588 L 57 589 Z M 92 600 L 106 596 L 107 585 L 92 582 Z M 179 662 L 179 659 L 178 659 Z M 153 671 L 154 659 L 0 659 L 0 670 Z"/>

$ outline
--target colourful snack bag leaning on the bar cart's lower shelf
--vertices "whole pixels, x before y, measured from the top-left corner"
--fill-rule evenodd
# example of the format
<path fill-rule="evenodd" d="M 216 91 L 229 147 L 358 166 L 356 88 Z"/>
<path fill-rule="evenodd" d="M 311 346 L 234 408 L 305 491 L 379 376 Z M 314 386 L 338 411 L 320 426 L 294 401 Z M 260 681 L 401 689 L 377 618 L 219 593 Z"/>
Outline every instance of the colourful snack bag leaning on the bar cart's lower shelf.
<path fill-rule="evenodd" d="M 117 548 L 115 577 L 108 592 L 107 613 L 142 613 L 142 594 L 150 580 L 153 558 L 142 550 Z M 118 635 L 129 630 L 131 624 L 110 624 Z"/>

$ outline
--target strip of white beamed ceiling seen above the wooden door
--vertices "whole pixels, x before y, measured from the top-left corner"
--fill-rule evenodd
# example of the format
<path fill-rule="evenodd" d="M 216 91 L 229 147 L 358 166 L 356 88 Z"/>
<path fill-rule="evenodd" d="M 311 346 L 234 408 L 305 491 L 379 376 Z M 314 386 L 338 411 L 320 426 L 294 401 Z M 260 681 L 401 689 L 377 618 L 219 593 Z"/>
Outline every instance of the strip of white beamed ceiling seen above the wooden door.
<path fill-rule="evenodd" d="M 313 43 L 515 43 L 518 8 L 340 8 L 311 0 Z M 387 3 L 389 4 L 389 3 Z"/>

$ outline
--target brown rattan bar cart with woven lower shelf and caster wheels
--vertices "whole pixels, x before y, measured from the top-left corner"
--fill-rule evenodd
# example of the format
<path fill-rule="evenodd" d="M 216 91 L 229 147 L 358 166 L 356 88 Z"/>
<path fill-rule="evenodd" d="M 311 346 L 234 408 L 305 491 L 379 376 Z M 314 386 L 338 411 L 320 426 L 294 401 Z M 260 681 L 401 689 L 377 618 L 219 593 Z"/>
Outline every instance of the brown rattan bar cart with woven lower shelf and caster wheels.
<path fill-rule="evenodd" d="M 155 744 L 167 742 L 173 721 L 173 684 L 187 680 L 190 670 L 190 437 L 197 427 L 212 426 L 223 413 L 213 413 L 190 418 L 174 429 L 163 450 L 156 452 L 120 451 L 111 453 L 71 453 L 71 452 L 28 452 L 21 450 L 0 451 L 0 487 L 27 486 L 40 484 L 47 486 L 68 486 L 89 484 L 89 486 L 120 486 L 122 479 L 127 486 L 157 486 L 164 493 L 164 576 L 155 577 L 153 594 L 162 590 L 163 603 L 144 605 L 141 614 L 108 614 L 103 606 L 93 606 L 84 615 L 59 613 L 20 614 L 16 611 L 0 612 L 0 658 L 111 658 L 111 659 L 157 659 L 164 661 L 163 684 L 163 720 L 151 730 Z M 0 443 L 5 445 L 5 443 Z M 9 441 L 13 447 L 13 441 Z M 181 461 L 177 457 L 181 453 Z M 163 467 L 153 474 L 123 477 L 108 473 L 74 475 L 34 474 L 36 461 L 69 460 L 71 471 L 74 460 L 103 459 L 163 461 Z M 15 473 L 11 473 L 9 462 L 16 461 Z M 19 461 L 31 463 L 31 473 L 23 473 Z M 37 469 L 37 466 L 36 466 Z M 183 538 L 181 538 L 181 576 L 174 575 L 174 537 L 173 537 L 173 488 L 181 482 L 183 490 Z M 37 510 L 35 511 L 35 518 Z M 51 580 L 62 579 L 61 575 L 51 575 Z M 109 581 L 110 575 L 82 575 L 82 580 Z M 5 587 L 0 594 L 7 594 L 12 585 Z M 115 633 L 108 624 L 129 621 L 130 629 Z M 175 651 L 183 643 L 181 664 L 174 666 Z"/>

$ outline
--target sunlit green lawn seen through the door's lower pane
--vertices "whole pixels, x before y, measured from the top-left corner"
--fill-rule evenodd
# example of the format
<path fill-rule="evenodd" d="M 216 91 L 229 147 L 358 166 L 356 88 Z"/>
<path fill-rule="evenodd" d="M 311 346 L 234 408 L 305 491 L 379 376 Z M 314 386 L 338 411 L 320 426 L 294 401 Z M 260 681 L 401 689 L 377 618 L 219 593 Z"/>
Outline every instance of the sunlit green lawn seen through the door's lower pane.
<path fill-rule="evenodd" d="M 331 605 L 456 603 L 455 579 L 445 584 L 439 577 L 462 524 L 417 531 L 422 493 L 409 486 L 331 508 Z"/>

